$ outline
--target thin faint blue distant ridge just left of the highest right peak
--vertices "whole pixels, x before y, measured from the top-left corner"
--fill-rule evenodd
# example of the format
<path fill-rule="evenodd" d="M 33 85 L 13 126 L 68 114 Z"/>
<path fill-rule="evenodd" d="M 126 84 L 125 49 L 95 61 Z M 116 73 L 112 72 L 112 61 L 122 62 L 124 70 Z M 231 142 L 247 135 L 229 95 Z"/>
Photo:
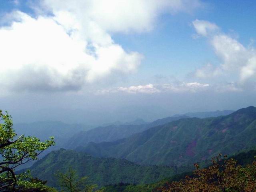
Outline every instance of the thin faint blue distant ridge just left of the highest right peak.
<path fill-rule="evenodd" d="M 233 113 L 232 110 L 224 110 L 224 111 L 209 111 L 209 112 L 189 112 L 185 114 L 176 114 L 172 117 L 178 116 L 188 116 L 188 117 L 196 117 L 196 118 L 208 118 L 208 117 L 218 117 L 218 116 L 225 116 Z"/>

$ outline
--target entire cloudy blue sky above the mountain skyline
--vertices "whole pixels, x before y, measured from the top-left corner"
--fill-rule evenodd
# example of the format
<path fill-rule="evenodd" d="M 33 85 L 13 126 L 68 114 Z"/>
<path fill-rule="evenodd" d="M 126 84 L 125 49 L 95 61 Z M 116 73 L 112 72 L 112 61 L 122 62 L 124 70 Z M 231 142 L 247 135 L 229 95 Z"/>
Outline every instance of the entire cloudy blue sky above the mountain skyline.
<path fill-rule="evenodd" d="M 0 108 L 103 124 L 255 106 L 252 0 L 2 0 Z"/>

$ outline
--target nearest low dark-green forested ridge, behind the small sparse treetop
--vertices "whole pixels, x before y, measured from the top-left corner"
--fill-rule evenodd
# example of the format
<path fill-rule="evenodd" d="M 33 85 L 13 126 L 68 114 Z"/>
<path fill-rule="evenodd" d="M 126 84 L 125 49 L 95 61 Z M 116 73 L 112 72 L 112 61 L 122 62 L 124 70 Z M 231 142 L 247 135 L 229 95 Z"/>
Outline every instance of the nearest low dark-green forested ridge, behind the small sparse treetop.
<path fill-rule="evenodd" d="M 83 152 L 60 149 L 52 151 L 30 167 L 32 176 L 47 180 L 49 186 L 57 187 L 54 174 L 66 172 L 72 166 L 80 177 L 89 176 L 94 184 L 105 186 L 128 182 L 145 184 L 173 176 L 177 170 L 172 167 L 140 166 L 124 159 L 95 158 Z"/>

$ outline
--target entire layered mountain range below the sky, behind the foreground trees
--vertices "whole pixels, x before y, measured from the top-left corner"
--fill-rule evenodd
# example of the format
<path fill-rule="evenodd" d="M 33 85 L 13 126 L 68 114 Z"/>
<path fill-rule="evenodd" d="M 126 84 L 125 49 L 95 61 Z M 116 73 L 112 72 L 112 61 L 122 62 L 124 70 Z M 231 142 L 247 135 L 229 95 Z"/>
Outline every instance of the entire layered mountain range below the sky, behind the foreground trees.
<path fill-rule="evenodd" d="M 35 126 L 18 132 L 28 131 L 29 134 Z M 54 127 L 48 125 L 47 129 L 54 133 L 51 130 Z M 105 187 L 108 189 L 105 191 L 127 186 L 134 192 L 148 192 L 166 178 L 182 178 L 184 174 L 181 173 L 192 170 L 195 162 L 207 165 L 208 160 L 219 153 L 245 151 L 236 155 L 240 164 L 251 162 L 256 153 L 255 150 L 247 152 L 256 147 L 256 108 L 253 106 L 226 116 L 172 116 L 151 123 L 86 129 L 81 125 L 74 126 L 71 131 L 70 126 L 63 128 L 65 133 L 60 136 L 70 137 L 62 144 L 76 149 L 48 153 L 30 167 L 32 176 L 48 180 L 49 186 L 58 187 L 55 174 L 72 167 L 79 177 L 89 176 L 98 186 L 121 183 L 120 186 Z M 44 131 L 40 127 L 38 130 Z M 43 132 L 41 136 L 44 136 Z M 152 182 L 158 183 L 150 184 Z"/>

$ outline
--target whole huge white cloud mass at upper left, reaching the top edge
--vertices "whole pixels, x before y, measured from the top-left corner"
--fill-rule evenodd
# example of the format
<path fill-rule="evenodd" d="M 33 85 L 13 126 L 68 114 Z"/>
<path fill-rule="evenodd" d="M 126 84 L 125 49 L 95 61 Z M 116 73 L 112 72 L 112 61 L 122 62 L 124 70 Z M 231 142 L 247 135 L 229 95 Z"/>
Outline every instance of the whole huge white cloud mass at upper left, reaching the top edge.
<path fill-rule="evenodd" d="M 188 4 L 190 6 L 188 6 Z M 147 32 L 163 13 L 190 12 L 198 0 L 44 0 L 32 17 L 15 11 L 0 27 L 0 86 L 67 91 L 136 72 L 143 56 L 116 44 L 112 33 Z"/>

